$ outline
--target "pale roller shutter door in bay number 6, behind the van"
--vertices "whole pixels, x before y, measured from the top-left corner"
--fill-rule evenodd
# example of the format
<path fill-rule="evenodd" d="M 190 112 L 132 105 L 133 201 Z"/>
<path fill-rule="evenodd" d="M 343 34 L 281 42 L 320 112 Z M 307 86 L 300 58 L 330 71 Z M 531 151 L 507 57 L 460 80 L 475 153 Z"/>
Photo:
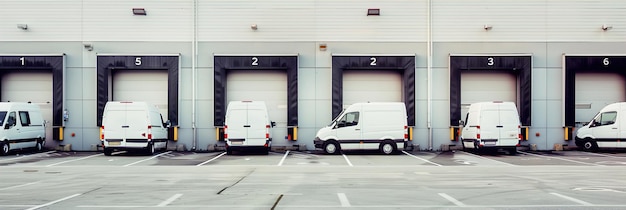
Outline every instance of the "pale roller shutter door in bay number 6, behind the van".
<path fill-rule="evenodd" d="M 616 73 L 576 73 L 576 127 L 589 122 L 604 106 L 626 99 L 624 77 Z"/>

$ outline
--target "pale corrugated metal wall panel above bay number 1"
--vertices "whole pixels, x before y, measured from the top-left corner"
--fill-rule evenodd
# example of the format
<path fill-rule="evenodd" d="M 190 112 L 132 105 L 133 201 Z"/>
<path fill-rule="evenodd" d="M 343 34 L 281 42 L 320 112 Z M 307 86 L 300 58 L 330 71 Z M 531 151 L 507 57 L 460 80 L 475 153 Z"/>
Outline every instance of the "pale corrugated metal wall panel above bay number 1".
<path fill-rule="evenodd" d="M 0 41 L 74 41 L 81 37 L 80 0 L 0 2 Z M 17 28 L 27 24 L 28 30 Z"/>

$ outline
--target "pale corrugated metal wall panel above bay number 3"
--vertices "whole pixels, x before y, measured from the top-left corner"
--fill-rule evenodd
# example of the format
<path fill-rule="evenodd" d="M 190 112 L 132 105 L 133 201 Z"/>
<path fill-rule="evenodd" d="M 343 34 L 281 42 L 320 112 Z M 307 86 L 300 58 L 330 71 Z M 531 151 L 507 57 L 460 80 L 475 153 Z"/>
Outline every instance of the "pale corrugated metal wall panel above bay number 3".
<path fill-rule="evenodd" d="M 545 38 L 546 0 L 433 1 L 434 41 L 536 41 Z M 484 25 L 491 25 L 485 30 Z"/>

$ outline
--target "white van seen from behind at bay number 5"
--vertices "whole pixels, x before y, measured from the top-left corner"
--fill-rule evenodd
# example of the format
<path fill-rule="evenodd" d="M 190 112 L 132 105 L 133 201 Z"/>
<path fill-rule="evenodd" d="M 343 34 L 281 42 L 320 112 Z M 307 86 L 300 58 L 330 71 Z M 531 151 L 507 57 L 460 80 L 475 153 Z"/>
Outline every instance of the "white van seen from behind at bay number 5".
<path fill-rule="evenodd" d="M 154 154 L 167 149 L 167 128 L 159 109 L 147 102 L 109 101 L 104 106 L 100 140 L 104 155 L 114 150 Z"/>

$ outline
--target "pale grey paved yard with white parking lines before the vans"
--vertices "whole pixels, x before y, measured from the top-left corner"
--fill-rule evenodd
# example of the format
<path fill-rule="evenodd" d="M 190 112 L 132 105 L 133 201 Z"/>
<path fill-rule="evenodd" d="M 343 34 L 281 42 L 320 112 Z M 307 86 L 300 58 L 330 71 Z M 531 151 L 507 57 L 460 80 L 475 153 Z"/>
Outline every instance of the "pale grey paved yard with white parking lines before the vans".
<path fill-rule="evenodd" d="M 626 208 L 622 151 L 0 157 L 0 209 Z"/>

